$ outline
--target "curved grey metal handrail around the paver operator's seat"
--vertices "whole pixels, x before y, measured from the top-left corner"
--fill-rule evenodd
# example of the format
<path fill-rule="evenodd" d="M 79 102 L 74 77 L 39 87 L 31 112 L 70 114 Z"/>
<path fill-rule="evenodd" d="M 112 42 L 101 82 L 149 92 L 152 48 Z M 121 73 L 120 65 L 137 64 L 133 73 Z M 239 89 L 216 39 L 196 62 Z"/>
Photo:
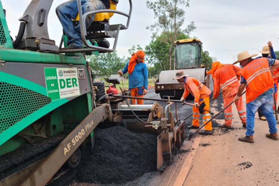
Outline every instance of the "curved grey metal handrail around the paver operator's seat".
<path fill-rule="evenodd" d="M 96 13 L 101 13 L 101 12 L 111 12 L 111 13 L 116 13 L 116 14 L 124 15 L 124 16 L 128 17 L 127 24 L 126 24 L 126 27 L 125 27 L 125 29 L 127 29 L 129 27 L 130 19 L 131 19 L 131 14 L 132 14 L 132 8 L 133 8 L 132 7 L 132 0 L 129 0 L 129 3 L 130 3 L 129 15 L 124 13 L 124 12 L 120 12 L 120 11 L 117 11 L 117 10 L 108 10 L 108 9 L 94 10 L 94 11 L 86 12 L 83 15 L 82 7 L 81 7 L 81 0 L 77 0 L 77 3 L 78 3 L 78 13 L 79 13 L 79 24 L 80 24 L 80 28 L 81 28 L 81 40 L 83 41 L 85 46 L 90 48 L 90 49 L 92 49 L 92 51 L 103 51 L 103 52 L 113 52 L 113 51 L 115 51 L 121 25 L 119 25 L 118 28 L 117 28 L 117 32 L 116 32 L 116 35 L 115 35 L 115 41 L 114 41 L 112 49 L 107 49 L 107 48 L 104 48 L 104 47 L 97 47 L 97 46 L 88 44 L 86 42 L 86 38 L 85 38 L 85 36 L 87 35 L 86 25 L 85 25 L 86 17 L 88 15 L 90 15 L 90 14 L 96 14 Z"/>

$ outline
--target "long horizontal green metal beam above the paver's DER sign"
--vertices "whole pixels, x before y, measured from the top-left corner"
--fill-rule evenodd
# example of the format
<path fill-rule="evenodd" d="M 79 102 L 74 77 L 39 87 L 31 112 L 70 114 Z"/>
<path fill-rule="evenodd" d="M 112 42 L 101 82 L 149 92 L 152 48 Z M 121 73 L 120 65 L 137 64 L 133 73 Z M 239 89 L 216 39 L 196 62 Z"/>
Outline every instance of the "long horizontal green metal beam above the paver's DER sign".
<path fill-rule="evenodd" d="M 74 64 L 85 65 L 86 60 L 82 54 L 79 56 L 67 56 L 63 54 L 42 53 L 17 49 L 0 49 L 0 60 L 8 62 L 24 63 L 48 63 L 48 64 Z"/>

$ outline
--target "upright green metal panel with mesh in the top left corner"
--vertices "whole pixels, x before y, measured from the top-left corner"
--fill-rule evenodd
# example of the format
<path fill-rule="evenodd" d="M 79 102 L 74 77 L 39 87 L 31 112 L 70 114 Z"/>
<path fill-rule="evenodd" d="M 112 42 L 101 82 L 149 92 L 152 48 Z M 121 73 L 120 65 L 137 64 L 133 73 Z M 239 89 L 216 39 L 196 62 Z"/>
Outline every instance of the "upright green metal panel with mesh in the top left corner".
<path fill-rule="evenodd" d="M 8 29 L 6 17 L 3 11 L 3 6 L 0 1 L 0 45 L 1 48 L 12 49 L 12 40 Z"/>

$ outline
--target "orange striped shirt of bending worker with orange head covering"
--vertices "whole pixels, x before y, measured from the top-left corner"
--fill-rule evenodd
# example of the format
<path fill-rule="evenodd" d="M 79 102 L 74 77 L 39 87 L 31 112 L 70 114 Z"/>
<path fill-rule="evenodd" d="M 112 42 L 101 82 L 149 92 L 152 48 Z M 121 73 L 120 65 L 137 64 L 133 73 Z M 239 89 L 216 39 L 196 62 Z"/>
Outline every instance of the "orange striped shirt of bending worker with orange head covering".
<path fill-rule="evenodd" d="M 226 64 L 217 69 L 214 73 L 214 93 L 213 98 L 219 95 L 220 87 L 223 98 L 235 95 L 238 91 L 241 68 L 235 65 Z"/>

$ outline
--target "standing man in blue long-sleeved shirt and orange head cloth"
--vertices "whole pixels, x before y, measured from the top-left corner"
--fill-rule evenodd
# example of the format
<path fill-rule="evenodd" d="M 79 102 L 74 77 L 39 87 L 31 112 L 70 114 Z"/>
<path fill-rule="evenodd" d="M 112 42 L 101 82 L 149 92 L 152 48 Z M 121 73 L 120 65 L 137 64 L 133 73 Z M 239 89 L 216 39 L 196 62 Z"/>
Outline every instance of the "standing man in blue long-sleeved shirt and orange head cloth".
<path fill-rule="evenodd" d="M 130 61 L 127 62 L 123 70 L 119 70 L 118 74 L 129 73 L 129 90 L 131 96 L 143 97 L 147 93 L 148 86 L 148 70 L 147 65 L 144 63 L 144 52 L 137 51 L 132 55 Z M 136 103 L 135 99 L 132 99 L 132 104 Z M 137 104 L 142 105 L 143 100 L 137 99 Z"/>

